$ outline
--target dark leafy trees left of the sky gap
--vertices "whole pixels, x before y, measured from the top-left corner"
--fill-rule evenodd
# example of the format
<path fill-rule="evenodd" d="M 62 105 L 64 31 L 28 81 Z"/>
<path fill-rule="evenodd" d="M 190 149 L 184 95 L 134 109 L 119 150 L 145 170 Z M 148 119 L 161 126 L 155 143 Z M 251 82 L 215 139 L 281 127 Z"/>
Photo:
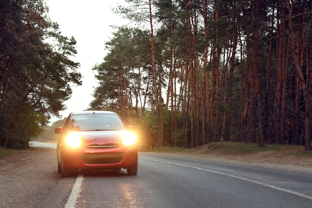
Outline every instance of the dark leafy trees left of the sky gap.
<path fill-rule="evenodd" d="M 0 146 L 22 149 L 81 84 L 73 37 L 49 20 L 44 0 L 0 0 Z"/>

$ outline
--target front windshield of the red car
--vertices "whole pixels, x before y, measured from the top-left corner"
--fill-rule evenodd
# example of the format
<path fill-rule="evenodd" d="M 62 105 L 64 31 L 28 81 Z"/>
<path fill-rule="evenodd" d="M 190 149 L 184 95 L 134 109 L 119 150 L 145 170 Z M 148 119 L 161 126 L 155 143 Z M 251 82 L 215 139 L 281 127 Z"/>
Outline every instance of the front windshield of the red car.
<path fill-rule="evenodd" d="M 119 116 L 115 114 L 73 115 L 70 119 L 70 131 L 115 131 L 125 128 Z"/>

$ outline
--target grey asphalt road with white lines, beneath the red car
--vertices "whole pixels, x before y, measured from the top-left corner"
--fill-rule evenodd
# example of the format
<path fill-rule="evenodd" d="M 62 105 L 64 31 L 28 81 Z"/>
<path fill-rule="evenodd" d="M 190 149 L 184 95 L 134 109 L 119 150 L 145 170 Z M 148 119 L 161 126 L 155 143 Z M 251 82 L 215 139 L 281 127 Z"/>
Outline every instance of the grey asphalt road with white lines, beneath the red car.
<path fill-rule="evenodd" d="M 126 170 L 61 179 L 38 206 L 60 208 L 311 208 L 312 175 L 140 153 Z"/>

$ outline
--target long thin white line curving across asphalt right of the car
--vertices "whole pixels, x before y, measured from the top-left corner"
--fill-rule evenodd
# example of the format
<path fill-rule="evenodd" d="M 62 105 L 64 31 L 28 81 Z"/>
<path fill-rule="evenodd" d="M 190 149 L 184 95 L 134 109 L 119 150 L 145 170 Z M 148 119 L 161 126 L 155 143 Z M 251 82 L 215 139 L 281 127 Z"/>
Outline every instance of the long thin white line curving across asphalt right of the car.
<path fill-rule="evenodd" d="M 248 182 L 251 182 L 251 183 L 254 183 L 254 184 L 259 184 L 259 185 L 262 185 L 262 186 L 265 186 L 265 187 L 270 187 L 270 188 L 275 189 L 275 190 L 279 190 L 279 191 L 282 191 L 282 192 L 287 192 L 287 193 L 290 193 L 290 194 L 293 194 L 293 195 L 297 195 L 297 196 L 299 196 L 299 197 L 303 197 L 303 198 L 312 200 L 312 197 L 311 197 L 311 196 L 304 195 L 304 194 L 301 194 L 301 193 L 299 193 L 299 192 L 294 192 L 294 191 L 291 191 L 291 190 L 288 190 L 288 189 L 283 189 L 283 188 L 276 187 L 276 186 L 273 186 L 273 185 L 270 185 L 270 184 L 261 183 L 261 182 L 258 182 L 258 181 L 254 181 L 254 180 L 242 178 L 242 177 L 239 177 L 239 176 L 234 176 L 234 175 L 231 175 L 231 174 L 226 174 L 226 173 L 222 173 L 222 172 L 218 172 L 218 171 L 211 171 L 211 170 L 202 169 L 202 168 L 193 167 L 193 166 L 182 165 L 182 164 L 178 164 L 178 163 L 164 162 L 164 161 L 153 160 L 153 159 L 143 158 L 143 157 L 140 157 L 140 158 L 146 159 L 146 160 L 155 161 L 155 162 L 159 162 L 159 163 L 167 163 L 167 164 L 172 164 L 172 165 L 177 165 L 177 166 L 183 166 L 183 167 L 187 167 L 187 168 L 193 168 L 193 169 L 197 169 L 197 170 L 201 170 L 201 171 L 206 171 L 206 172 L 221 174 L 221 175 L 224 175 L 224 176 L 229 176 L 229 177 L 236 178 L 236 179 L 240 179 L 240 180 L 243 180 L 243 181 L 248 181 Z"/>

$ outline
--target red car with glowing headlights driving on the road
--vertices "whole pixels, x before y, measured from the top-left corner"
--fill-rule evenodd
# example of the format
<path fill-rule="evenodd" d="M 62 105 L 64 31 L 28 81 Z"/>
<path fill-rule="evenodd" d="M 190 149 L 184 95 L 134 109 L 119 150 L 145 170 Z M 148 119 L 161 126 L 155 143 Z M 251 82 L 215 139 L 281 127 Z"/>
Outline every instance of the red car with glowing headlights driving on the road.
<path fill-rule="evenodd" d="M 137 175 L 136 136 L 111 111 L 70 113 L 64 127 L 56 128 L 57 171 L 62 177 L 71 171 L 121 170 Z"/>

